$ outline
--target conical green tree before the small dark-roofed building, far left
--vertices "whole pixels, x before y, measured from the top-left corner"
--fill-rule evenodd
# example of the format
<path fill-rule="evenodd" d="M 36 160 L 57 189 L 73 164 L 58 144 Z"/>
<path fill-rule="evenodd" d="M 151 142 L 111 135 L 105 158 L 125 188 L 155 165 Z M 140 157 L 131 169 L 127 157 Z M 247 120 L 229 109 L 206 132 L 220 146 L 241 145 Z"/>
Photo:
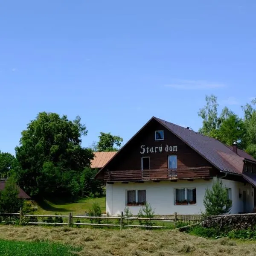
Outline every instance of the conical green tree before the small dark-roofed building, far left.
<path fill-rule="evenodd" d="M 5 188 L 0 192 L 0 212 L 19 212 L 23 199 L 18 198 L 19 191 L 14 177 L 9 177 Z"/>

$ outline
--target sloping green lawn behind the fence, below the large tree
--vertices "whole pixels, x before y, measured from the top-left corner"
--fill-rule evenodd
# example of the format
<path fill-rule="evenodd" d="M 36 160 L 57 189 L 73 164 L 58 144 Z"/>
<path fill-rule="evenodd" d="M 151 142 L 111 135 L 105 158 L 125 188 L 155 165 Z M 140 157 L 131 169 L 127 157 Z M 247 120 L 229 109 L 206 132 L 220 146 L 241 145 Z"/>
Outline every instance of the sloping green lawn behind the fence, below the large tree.
<path fill-rule="evenodd" d="M 98 203 L 104 213 L 106 210 L 105 197 L 100 198 L 79 198 L 77 202 L 67 202 L 64 199 L 41 199 L 36 201 L 38 210 L 34 214 L 45 215 L 55 213 L 68 215 L 73 212 L 73 215 L 84 214 L 89 212 L 93 203 Z"/>

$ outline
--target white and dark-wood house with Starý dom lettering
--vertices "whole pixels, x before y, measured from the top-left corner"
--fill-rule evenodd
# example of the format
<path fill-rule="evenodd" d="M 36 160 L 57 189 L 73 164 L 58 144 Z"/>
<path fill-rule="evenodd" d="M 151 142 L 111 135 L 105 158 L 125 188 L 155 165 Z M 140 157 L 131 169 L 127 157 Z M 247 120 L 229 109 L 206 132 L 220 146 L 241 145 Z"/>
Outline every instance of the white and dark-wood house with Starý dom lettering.
<path fill-rule="evenodd" d="M 106 183 L 106 211 L 148 201 L 158 215 L 199 214 L 215 179 L 233 201 L 231 213 L 256 206 L 256 160 L 189 128 L 152 117 L 96 175 Z"/>

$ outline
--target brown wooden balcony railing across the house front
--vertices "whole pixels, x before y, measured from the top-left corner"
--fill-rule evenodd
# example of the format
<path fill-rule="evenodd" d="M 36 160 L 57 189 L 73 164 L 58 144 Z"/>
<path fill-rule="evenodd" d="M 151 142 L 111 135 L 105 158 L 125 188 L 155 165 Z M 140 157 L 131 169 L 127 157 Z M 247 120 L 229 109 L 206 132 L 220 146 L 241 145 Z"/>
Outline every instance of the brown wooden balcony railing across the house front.
<path fill-rule="evenodd" d="M 178 179 L 206 179 L 210 177 L 211 167 L 193 167 L 178 169 L 150 169 L 106 171 L 104 180 L 114 181 L 145 181 L 145 180 L 178 180 Z"/>

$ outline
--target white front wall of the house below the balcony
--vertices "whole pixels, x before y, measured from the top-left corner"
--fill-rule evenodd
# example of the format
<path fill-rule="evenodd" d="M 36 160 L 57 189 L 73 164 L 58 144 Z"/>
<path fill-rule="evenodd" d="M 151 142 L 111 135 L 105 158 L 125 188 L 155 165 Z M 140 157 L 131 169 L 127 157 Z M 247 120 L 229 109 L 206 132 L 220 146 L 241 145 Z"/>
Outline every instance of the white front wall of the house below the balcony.
<path fill-rule="evenodd" d="M 120 214 L 126 203 L 126 191 L 132 189 L 145 189 L 146 199 L 155 209 L 155 214 L 171 215 L 177 214 L 200 214 L 201 209 L 204 210 L 203 198 L 206 187 L 212 186 L 212 180 L 178 180 L 177 182 L 161 181 L 160 183 L 114 183 L 107 184 L 106 187 L 106 212 L 112 215 Z M 195 188 L 197 189 L 197 204 L 195 205 L 175 205 L 174 189 L 175 188 Z M 111 191 L 112 190 L 112 191 Z M 112 194 L 112 203 L 111 195 Z M 112 205 L 112 209 L 111 209 Z M 140 206 L 129 206 L 131 212 L 137 215 Z"/>

